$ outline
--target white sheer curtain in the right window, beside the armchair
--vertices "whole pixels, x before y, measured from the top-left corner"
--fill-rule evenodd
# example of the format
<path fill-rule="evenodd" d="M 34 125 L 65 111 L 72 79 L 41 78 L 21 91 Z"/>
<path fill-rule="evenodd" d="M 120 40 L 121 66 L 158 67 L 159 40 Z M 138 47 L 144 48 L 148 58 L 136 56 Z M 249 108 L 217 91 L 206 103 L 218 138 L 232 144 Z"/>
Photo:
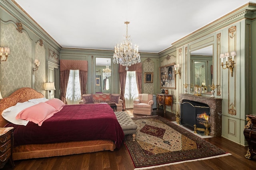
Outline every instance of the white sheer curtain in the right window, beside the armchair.
<path fill-rule="evenodd" d="M 124 90 L 125 107 L 133 108 L 133 100 L 138 98 L 138 88 L 136 83 L 136 72 L 127 71 Z"/>

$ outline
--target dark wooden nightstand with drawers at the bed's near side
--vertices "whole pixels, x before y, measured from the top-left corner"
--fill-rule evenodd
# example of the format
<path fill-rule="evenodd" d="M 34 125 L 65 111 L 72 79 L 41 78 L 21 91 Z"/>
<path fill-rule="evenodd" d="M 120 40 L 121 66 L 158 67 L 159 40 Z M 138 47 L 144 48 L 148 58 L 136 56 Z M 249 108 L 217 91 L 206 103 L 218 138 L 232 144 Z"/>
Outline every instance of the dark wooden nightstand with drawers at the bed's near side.
<path fill-rule="evenodd" d="M 12 149 L 13 127 L 0 127 L 0 168 L 3 168 L 8 161 L 14 167 Z"/>

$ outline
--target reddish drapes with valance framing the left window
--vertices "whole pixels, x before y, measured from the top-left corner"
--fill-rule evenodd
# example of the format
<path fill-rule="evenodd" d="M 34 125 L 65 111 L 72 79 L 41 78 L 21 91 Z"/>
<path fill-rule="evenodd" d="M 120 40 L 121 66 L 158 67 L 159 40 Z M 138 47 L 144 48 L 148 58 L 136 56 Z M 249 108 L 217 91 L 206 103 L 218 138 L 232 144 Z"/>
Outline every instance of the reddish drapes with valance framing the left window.
<path fill-rule="evenodd" d="M 86 60 L 60 60 L 60 91 L 62 102 L 67 104 L 66 92 L 68 86 L 69 70 L 80 70 L 80 88 L 81 94 L 86 94 L 88 61 Z M 84 73 L 86 72 L 86 73 Z"/>

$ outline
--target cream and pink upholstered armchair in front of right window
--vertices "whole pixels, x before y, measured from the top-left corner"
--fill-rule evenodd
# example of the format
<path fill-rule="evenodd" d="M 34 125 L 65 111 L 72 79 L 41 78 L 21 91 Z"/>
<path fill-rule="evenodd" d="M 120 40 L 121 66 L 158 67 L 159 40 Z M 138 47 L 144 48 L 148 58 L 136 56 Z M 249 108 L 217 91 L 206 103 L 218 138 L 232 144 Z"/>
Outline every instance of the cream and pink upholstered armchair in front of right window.
<path fill-rule="evenodd" d="M 142 115 L 151 115 L 154 104 L 152 94 L 139 94 L 138 99 L 133 101 L 133 113 Z"/>

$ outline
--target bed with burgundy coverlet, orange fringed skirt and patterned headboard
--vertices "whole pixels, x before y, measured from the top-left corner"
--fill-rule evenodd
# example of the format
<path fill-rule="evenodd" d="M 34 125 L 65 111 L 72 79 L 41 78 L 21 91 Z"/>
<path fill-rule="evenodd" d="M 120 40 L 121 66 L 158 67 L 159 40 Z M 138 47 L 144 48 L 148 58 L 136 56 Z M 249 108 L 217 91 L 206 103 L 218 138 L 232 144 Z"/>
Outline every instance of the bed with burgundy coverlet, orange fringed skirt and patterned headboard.
<path fill-rule="evenodd" d="M 32 88 L 20 88 L 0 100 L 0 113 L 17 103 L 43 97 Z M 40 126 L 31 121 L 26 126 L 15 125 L 0 116 L 0 127 L 14 127 L 14 160 L 114 151 L 124 139 L 114 111 L 107 104 L 65 105 Z M 61 131 L 64 134 L 61 135 Z M 56 134 L 59 136 L 54 136 Z"/>

